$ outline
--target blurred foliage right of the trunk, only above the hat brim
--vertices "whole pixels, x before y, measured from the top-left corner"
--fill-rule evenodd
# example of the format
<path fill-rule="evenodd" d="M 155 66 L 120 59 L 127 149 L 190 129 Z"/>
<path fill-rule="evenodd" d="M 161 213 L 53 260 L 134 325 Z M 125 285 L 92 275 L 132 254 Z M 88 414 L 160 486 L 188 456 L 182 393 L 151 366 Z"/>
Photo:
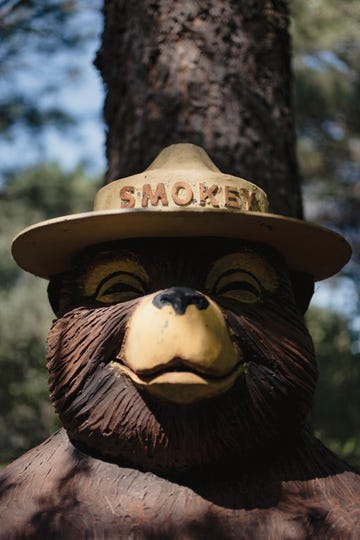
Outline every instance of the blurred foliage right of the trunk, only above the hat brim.
<path fill-rule="evenodd" d="M 360 268 L 360 3 L 290 4 L 306 215 L 350 239 L 354 274 Z"/>

